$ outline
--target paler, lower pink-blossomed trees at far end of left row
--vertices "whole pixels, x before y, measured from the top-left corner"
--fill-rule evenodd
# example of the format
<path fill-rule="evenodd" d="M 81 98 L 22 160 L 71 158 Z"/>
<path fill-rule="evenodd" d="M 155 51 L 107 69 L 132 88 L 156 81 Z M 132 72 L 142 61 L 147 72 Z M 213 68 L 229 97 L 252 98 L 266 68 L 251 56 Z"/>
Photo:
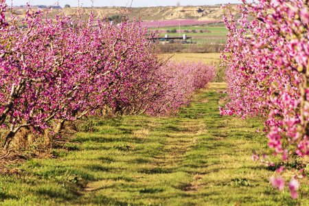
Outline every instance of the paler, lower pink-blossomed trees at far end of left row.
<path fill-rule="evenodd" d="M 202 62 L 169 61 L 161 67 L 163 88 L 160 99 L 150 104 L 150 115 L 164 115 L 177 111 L 190 103 L 192 94 L 211 82 L 216 75 L 216 67 Z"/>

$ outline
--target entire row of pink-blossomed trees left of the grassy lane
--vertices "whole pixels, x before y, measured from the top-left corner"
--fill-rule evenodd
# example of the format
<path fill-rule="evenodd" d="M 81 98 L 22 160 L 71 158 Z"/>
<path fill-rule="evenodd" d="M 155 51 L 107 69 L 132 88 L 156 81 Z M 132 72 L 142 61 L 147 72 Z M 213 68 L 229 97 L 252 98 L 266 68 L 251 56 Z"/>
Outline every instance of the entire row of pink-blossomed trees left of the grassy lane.
<path fill-rule="evenodd" d="M 0 125 L 9 130 L 5 149 L 21 128 L 54 130 L 58 136 L 65 121 L 84 115 L 171 113 L 187 104 L 191 87 L 198 89 L 214 76 L 214 68 L 194 63 L 171 63 L 168 71 L 152 41 L 157 34 L 148 35 L 136 19 L 111 25 L 91 13 L 87 22 L 65 14 L 53 21 L 47 19 L 48 10 L 29 9 L 24 19 L 12 14 L 8 22 L 5 8 L 1 0 Z M 52 122 L 58 123 L 56 129 Z"/>

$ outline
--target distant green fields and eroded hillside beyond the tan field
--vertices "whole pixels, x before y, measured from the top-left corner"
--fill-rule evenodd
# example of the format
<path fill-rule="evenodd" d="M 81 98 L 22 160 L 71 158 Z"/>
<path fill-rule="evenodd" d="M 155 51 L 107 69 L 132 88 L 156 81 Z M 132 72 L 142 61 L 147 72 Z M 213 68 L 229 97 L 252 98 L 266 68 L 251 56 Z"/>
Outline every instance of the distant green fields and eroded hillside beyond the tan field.
<path fill-rule="evenodd" d="M 129 6 L 129 5 L 128 5 Z M 233 5 L 235 6 L 235 5 Z M 23 18 L 26 8 L 13 8 L 14 12 L 19 14 L 20 18 Z M 33 7 L 33 10 L 38 9 Z M 235 9 L 235 8 L 234 8 Z M 84 14 L 82 19 L 87 19 L 91 8 L 80 8 Z M 128 14 L 128 11 L 129 14 Z M 58 9 L 51 10 L 49 16 L 54 19 L 56 14 L 65 13 L 76 19 L 78 14 L 78 8 L 63 8 L 61 12 Z M 112 18 L 115 16 L 121 16 L 122 14 L 128 15 L 129 19 L 137 17 L 143 25 L 153 22 L 161 22 L 159 32 L 161 32 L 161 38 L 168 34 L 170 37 L 179 37 L 179 23 L 181 23 L 181 37 L 185 34 L 184 30 L 189 30 L 188 37 L 192 37 L 194 45 L 182 45 L 174 43 L 171 45 L 160 45 L 160 49 L 163 53 L 213 53 L 218 52 L 218 49 L 223 49 L 227 41 L 227 29 L 222 22 L 222 10 L 220 5 L 214 6 L 169 6 L 169 7 L 157 7 L 157 8 L 121 8 L 121 7 L 104 7 L 95 8 L 95 14 L 102 18 Z M 151 15 L 150 15 L 151 14 Z M 238 19 L 240 15 L 233 10 L 235 18 Z M 7 12 L 5 16 L 10 19 L 10 13 Z M 117 18 L 116 18 L 117 19 Z M 119 18 L 121 19 L 121 17 Z M 194 20 L 194 21 L 193 21 Z M 194 22 L 194 25 L 185 25 L 185 22 Z M 173 27 L 165 27 L 164 25 L 170 25 L 167 23 L 173 22 L 176 24 Z M 178 23 L 179 22 L 179 23 Z M 209 23 L 207 23 L 209 22 Z M 117 23 L 115 21 L 115 23 Z M 176 33 L 167 33 L 166 30 L 176 29 Z M 150 27 L 149 30 L 153 31 L 157 28 Z M 196 30 L 196 33 L 192 33 L 192 30 Z M 203 30 L 203 33 L 199 31 Z M 205 32 L 207 31 L 207 32 Z"/>

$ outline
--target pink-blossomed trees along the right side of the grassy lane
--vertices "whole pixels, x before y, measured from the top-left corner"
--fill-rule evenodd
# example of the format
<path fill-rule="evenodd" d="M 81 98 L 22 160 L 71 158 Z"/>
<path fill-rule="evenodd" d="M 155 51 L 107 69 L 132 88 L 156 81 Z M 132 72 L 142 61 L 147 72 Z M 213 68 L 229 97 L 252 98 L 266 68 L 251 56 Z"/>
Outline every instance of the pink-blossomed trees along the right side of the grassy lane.
<path fill-rule="evenodd" d="M 232 14 L 231 21 L 224 16 L 229 39 L 222 60 L 231 101 L 220 113 L 263 117 L 268 146 L 284 161 L 309 155 L 308 1 L 243 2 L 238 22 Z M 283 181 L 280 176 L 271 180 L 279 190 Z M 292 179 L 293 198 L 298 187 Z"/>

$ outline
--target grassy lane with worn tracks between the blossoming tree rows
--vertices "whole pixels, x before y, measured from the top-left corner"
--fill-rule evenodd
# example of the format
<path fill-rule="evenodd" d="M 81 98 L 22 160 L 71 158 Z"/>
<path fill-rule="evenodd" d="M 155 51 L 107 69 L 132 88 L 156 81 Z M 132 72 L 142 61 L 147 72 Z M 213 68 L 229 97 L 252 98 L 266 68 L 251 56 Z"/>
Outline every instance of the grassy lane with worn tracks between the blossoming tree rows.
<path fill-rule="evenodd" d="M 91 122 L 69 152 L 13 165 L 0 176 L 0 205 L 306 205 L 268 183 L 273 170 L 251 161 L 267 139 L 258 119 L 221 117 L 218 89 L 201 89 L 175 117 Z M 222 102 L 220 102 L 222 103 Z"/>

